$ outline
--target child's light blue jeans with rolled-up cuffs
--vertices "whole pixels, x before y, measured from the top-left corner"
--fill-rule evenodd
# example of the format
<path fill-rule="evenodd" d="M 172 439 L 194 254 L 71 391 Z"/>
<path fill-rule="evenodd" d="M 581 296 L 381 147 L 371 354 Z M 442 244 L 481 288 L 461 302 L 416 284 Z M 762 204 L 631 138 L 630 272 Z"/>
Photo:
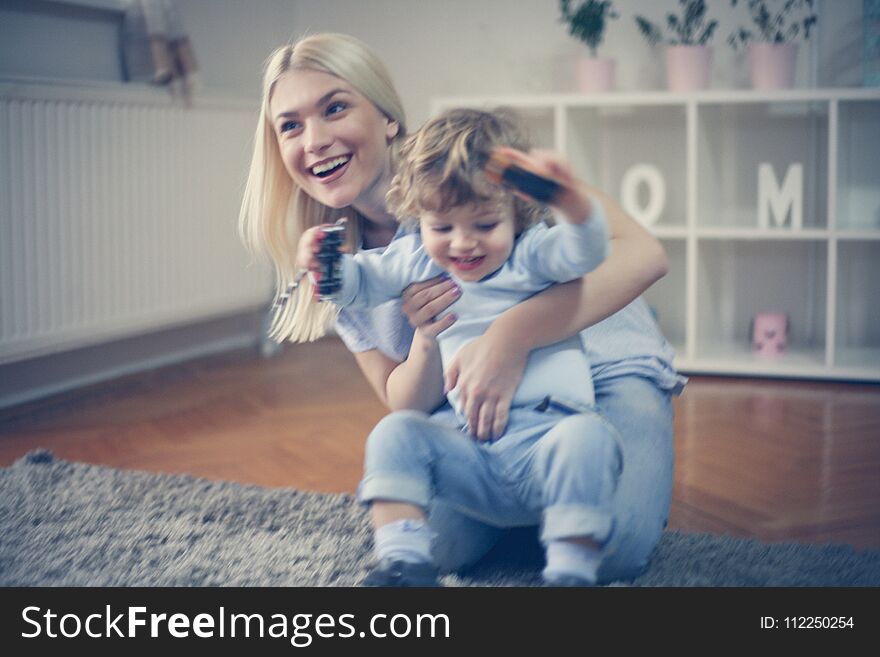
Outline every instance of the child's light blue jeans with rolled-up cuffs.
<path fill-rule="evenodd" d="M 442 504 L 494 529 L 540 522 L 545 543 L 575 536 L 601 542 L 612 526 L 621 455 L 613 428 L 597 413 L 550 404 L 512 409 L 494 442 L 463 433 L 451 410 L 392 413 L 370 433 L 364 463 L 362 502 L 405 502 L 426 513 Z"/>

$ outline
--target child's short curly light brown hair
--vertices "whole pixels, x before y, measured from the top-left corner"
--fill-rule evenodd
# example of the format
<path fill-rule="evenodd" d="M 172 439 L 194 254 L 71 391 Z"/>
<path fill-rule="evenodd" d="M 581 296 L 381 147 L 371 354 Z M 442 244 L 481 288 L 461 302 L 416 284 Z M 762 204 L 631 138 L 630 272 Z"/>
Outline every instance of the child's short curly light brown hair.
<path fill-rule="evenodd" d="M 516 233 L 545 210 L 490 182 L 483 169 L 492 150 L 530 148 L 518 117 L 506 109 L 453 109 L 428 121 L 403 143 L 386 202 L 398 217 L 415 217 L 471 203 L 513 202 Z"/>

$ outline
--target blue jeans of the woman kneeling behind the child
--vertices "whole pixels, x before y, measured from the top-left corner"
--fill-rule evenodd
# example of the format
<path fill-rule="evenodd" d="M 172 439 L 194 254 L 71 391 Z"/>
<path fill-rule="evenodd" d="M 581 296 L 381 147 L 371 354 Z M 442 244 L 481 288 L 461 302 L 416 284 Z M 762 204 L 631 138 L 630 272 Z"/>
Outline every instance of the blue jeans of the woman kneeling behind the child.
<path fill-rule="evenodd" d="M 672 400 L 668 392 L 636 375 L 594 383 L 603 426 L 616 431 L 623 457 L 599 568 L 599 581 L 610 582 L 642 572 L 666 526 L 674 467 Z M 505 434 L 499 442 L 506 438 Z M 437 534 L 434 560 L 446 571 L 473 565 L 504 531 L 443 499 L 433 500 L 428 517 Z"/>

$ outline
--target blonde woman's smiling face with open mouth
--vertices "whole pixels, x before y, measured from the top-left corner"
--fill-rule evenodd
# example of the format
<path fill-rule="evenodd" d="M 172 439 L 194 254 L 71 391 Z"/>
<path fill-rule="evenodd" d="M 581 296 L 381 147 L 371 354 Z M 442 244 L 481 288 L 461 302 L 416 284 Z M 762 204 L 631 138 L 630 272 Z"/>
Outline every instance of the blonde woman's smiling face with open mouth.
<path fill-rule="evenodd" d="M 345 80 L 295 69 L 275 82 L 269 114 L 287 173 L 333 208 L 384 204 L 398 125 Z"/>

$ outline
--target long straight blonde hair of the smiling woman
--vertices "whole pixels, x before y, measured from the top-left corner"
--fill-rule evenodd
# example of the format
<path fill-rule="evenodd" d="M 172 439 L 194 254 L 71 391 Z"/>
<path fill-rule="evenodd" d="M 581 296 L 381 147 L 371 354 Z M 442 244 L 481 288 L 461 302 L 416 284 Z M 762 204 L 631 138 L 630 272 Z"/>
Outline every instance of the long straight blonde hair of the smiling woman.
<path fill-rule="evenodd" d="M 239 233 L 252 253 L 269 256 L 275 285 L 282 292 L 297 275 L 295 255 L 300 235 L 307 229 L 348 217 L 347 246 L 360 248 L 366 219 L 352 207 L 331 208 L 319 203 L 291 180 L 278 149 L 269 102 L 275 83 L 285 73 L 308 69 L 345 80 L 376 108 L 398 124 L 389 144 L 392 166 L 406 136 L 403 104 L 387 69 L 362 41 L 347 34 L 314 34 L 278 48 L 266 60 L 260 116 L 254 152 L 239 213 Z M 312 341 L 325 335 L 336 318 L 332 303 L 320 303 L 308 278 L 276 314 L 269 335 L 276 340 Z"/>

